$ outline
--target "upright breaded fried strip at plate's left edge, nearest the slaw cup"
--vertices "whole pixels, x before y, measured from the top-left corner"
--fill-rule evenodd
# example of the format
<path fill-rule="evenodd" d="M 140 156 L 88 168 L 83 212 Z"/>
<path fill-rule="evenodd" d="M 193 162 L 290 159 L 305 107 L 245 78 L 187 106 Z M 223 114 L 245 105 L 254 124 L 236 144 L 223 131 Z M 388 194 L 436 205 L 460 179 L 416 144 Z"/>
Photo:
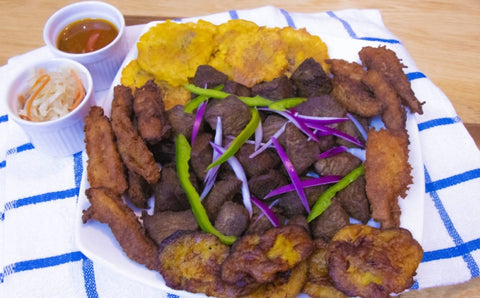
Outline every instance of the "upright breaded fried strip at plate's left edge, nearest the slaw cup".
<path fill-rule="evenodd" d="M 125 169 L 115 144 L 110 121 L 98 106 L 84 119 L 87 149 L 87 179 L 91 187 L 107 187 L 122 194 L 128 187 Z"/>

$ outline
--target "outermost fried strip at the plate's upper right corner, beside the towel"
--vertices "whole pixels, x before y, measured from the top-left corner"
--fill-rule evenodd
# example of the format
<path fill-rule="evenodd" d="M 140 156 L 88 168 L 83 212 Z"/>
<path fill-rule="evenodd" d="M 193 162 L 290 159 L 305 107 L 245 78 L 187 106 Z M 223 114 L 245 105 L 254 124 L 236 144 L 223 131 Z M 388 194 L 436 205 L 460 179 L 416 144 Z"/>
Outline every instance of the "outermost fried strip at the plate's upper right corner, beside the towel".
<path fill-rule="evenodd" d="M 362 64 L 368 70 L 376 70 L 385 78 L 412 113 L 423 114 L 422 105 L 425 102 L 421 103 L 415 97 L 410 82 L 403 72 L 405 66 L 394 51 L 387 49 L 385 46 L 378 48 L 364 47 L 358 55 Z"/>

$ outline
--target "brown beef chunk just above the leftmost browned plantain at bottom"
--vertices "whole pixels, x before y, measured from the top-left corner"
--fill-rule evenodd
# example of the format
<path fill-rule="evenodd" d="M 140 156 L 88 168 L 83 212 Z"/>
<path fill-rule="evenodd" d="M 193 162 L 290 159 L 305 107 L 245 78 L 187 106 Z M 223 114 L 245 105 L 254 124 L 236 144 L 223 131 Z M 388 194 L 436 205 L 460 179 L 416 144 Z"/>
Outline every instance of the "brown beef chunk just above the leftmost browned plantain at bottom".
<path fill-rule="evenodd" d="M 195 231 L 198 223 L 192 210 L 185 211 L 164 211 L 149 215 L 142 212 L 142 220 L 148 235 L 160 245 L 163 239 L 169 237 L 176 231 Z"/>

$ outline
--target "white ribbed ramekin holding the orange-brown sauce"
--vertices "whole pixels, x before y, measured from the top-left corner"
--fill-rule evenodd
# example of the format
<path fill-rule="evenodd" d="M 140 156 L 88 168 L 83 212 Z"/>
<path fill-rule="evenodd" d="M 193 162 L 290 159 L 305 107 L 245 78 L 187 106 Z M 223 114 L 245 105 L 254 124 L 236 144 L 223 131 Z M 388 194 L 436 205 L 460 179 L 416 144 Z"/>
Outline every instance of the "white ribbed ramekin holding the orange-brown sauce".
<path fill-rule="evenodd" d="M 118 29 L 117 37 L 107 46 L 89 53 L 73 54 L 57 48 L 57 38 L 65 26 L 83 19 L 104 19 Z M 84 1 L 67 5 L 56 11 L 45 23 L 43 39 L 57 57 L 69 58 L 83 64 L 91 73 L 95 90 L 110 87 L 128 52 L 125 39 L 125 19 L 114 6 L 99 1 Z"/>

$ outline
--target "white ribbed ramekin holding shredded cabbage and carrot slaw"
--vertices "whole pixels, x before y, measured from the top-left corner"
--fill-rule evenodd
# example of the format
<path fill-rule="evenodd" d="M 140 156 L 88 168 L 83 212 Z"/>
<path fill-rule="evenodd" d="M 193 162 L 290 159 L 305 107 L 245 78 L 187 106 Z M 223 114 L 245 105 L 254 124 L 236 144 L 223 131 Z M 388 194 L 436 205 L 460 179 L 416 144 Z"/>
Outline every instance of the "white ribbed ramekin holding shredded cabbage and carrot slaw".
<path fill-rule="evenodd" d="M 82 81 L 85 88 L 85 98 L 82 102 L 67 115 L 55 120 L 33 122 L 20 118 L 18 95 L 28 89 L 27 80 L 34 71 L 39 68 L 54 71 L 63 67 L 73 68 Z M 12 74 L 5 96 L 8 117 L 25 131 L 36 149 L 55 157 L 68 156 L 85 148 L 83 118 L 95 102 L 94 93 L 92 76 L 82 64 L 65 58 L 39 60 Z"/>

